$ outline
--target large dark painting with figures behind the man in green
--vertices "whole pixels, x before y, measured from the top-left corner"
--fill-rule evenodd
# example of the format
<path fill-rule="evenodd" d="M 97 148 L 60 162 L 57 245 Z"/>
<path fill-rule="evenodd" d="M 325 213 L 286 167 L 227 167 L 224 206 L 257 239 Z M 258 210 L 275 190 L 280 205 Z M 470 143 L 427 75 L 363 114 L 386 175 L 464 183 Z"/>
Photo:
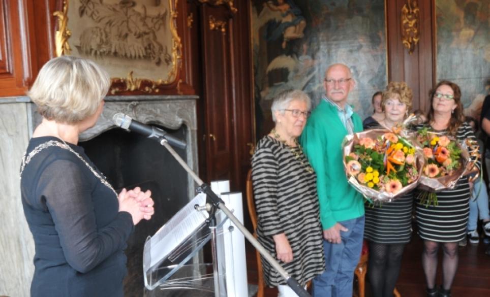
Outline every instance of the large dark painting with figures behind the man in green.
<path fill-rule="evenodd" d="M 386 87 L 385 1 L 253 0 L 252 47 L 256 135 L 273 126 L 270 105 L 275 95 L 300 89 L 313 107 L 324 94 L 328 65 L 348 65 L 357 86 L 349 104 L 365 118 L 371 97 Z"/>

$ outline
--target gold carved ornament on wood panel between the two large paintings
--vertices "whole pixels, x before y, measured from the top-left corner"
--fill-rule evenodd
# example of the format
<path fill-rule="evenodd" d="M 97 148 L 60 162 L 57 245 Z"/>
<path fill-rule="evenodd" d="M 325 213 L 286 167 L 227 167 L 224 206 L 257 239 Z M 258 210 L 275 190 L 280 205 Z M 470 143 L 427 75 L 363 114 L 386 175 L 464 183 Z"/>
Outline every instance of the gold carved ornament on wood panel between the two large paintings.
<path fill-rule="evenodd" d="M 420 13 L 417 2 L 408 0 L 402 8 L 402 43 L 412 54 L 420 40 Z"/>

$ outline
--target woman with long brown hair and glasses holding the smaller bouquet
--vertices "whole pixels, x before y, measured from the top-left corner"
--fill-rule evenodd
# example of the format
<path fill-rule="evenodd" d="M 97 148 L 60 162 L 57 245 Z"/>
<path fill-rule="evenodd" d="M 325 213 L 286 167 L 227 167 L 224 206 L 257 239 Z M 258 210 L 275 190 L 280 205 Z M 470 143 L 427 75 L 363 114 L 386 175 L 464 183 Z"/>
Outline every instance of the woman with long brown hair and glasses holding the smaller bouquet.
<path fill-rule="evenodd" d="M 471 126 L 464 122 L 460 87 L 449 81 L 441 81 L 430 92 L 430 97 L 427 127 L 460 141 L 475 139 Z M 479 160 L 477 167 L 480 167 Z M 454 189 L 437 192 L 437 206 L 426 206 L 420 200 L 416 201 L 418 233 L 424 241 L 422 266 L 427 282 L 427 296 L 451 295 L 450 289 L 457 270 L 458 242 L 466 236 L 470 195 L 468 178 L 463 177 Z M 444 251 L 443 283 L 438 290 L 435 282 L 440 246 Z"/>

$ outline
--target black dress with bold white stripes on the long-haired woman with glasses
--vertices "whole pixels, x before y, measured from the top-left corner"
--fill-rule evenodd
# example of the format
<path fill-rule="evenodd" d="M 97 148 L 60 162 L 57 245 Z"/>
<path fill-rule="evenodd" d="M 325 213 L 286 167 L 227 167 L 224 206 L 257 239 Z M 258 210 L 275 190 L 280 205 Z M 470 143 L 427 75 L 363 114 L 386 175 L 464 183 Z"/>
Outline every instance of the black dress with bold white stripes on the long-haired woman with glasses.
<path fill-rule="evenodd" d="M 447 133 L 446 130 L 436 132 Z M 465 140 L 467 138 L 475 139 L 475 135 L 471 126 L 464 122 L 457 129 L 456 139 Z M 476 166 L 480 168 L 480 160 L 477 161 Z M 437 192 L 438 206 L 425 207 L 420 200 L 415 200 L 420 237 L 436 242 L 461 241 L 466 236 L 470 196 L 470 186 L 465 176 L 458 180 L 454 189 Z"/>

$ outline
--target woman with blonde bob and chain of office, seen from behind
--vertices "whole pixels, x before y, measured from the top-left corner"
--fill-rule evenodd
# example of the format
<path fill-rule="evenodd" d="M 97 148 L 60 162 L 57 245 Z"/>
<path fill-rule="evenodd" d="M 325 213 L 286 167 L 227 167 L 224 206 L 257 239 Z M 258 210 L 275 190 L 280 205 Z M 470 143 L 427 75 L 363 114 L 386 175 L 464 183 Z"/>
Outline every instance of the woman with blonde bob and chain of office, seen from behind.
<path fill-rule="evenodd" d="M 150 191 L 117 194 L 77 146 L 102 113 L 109 84 L 93 61 L 64 56 L 48 61 L 28 92 L 43 116 L 20 169 L 36 247 L 33 297 L 123 296 L 126 241 L 154 213 Z"/>

